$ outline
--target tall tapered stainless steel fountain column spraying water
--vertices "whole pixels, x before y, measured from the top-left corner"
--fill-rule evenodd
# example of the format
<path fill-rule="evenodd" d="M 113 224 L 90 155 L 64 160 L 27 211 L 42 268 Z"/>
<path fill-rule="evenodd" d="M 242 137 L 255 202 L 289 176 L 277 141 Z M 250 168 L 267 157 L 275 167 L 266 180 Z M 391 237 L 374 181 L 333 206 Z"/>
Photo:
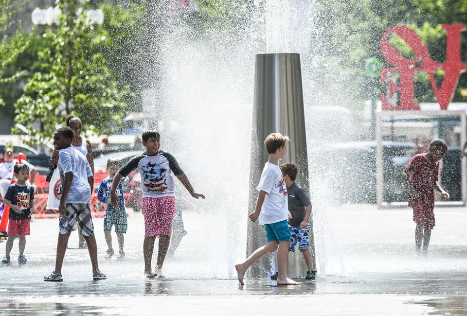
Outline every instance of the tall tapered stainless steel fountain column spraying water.
<path fill-rule="evenodd" d="M 259 182 L 268 153 L 264 140 L 270 133 L 279 132 L 290 138 L 282 162 L 299 167 L 296 181 L 309 194 L 308 153 L 306 150 L 305 115 L 303 108 L 302 73 L 297 53 L 258 54 L 255 59 L 254 105 L 251 134 L 249 212 L 254 210 Z M 280 163 L 282 163 L 280 162 Z M 266 244 L 266 233 L 258 223 L 248 220 L 247 256 Z M 313 224 L 310 250 L 315 257 Z M 274 257 L 265 256 L 248 270 L 249 278 L 265 278 L 273 273 Z M 289 253 L 288 276 L 305 274 L 306 265 L 300 251 Z M 300 275 L 300 273 L 302 275 Z"/>

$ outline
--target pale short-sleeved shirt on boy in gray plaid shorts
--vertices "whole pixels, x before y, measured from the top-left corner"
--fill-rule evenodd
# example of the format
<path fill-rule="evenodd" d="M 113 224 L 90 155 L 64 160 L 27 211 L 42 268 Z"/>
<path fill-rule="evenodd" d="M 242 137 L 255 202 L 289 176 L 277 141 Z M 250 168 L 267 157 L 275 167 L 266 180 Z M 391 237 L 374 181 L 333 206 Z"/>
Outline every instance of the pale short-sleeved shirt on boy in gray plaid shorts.
<path fill-rule="evenodd" d="M 72 147 L 61 149 L 58 152 L 58 171 L 62 186 L 65 183 L 65 174 L 73 173 L 67 203 L 90 203 L 91 188 L 88 177 L 92 176 L 92 171 L 86 156 Z"/>

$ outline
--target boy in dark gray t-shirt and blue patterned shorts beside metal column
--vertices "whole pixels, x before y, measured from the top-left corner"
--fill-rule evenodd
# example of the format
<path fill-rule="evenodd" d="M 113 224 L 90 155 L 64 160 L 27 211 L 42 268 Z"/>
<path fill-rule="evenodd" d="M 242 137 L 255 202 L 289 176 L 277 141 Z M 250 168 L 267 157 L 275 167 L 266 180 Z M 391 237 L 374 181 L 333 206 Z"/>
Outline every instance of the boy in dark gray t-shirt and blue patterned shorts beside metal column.
<path fill-rule="evenodd" d="M 283 163 L 281 166 L 282 175 L 287 186 L 288 193 L 288 228 L 290 229 L 291 240 L 289 251 L 298 249 L 302 251 L 308 271 L 305 280 L 316 278 L 316 269 L 313 266 L 313 257 L 310 251 L 310 215 L 311 202 L 308 195 L 297 183 L 295 178 L 298 174 L 298 167 L 294 163 Z M 271 278 L 273 278 L 272 276 Z"/>

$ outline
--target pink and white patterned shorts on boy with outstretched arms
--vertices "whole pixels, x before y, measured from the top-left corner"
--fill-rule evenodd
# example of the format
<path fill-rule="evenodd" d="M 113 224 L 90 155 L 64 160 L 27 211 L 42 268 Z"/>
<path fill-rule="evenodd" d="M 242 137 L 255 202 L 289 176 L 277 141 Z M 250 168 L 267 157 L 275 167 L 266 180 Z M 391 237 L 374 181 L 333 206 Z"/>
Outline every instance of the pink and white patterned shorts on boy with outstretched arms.
<path fill-rule="evenodd" d="M 170 236 L 175 217 L 175 196 L 144 197 L 144 237 Z"/>

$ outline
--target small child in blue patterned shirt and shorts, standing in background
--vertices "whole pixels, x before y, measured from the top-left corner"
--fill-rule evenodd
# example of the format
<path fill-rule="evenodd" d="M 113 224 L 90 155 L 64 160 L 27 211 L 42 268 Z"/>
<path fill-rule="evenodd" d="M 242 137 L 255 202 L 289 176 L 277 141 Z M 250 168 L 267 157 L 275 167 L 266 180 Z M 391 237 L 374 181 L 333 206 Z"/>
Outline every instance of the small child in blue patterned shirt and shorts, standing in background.
<path fill-rule="evenodd" d="M 113 225 L 115 225 L 115 233 L 117 234 L 118 246 L 120 248 L 118 258 L 125 258 L 125 252 L 123 251 L 123 234 L 126 233 L 127 222 L 122 183 L 119 183 L 118 188 L 116 190 L 116 194 L 118 196 L 118 207 L 115 208 L 110 203 L 110 186 L 112 185 L 112 179 L 119 168 L 119 159 L 110 158 L 107 160 L 108 178 L 102 180 L 101 185 L 99 186 L 99 190 L 97 192 L 97 198 L 99 199 L 99 201 L 107 204 L 106 215 L 104 216 L 104 234 L 106 236 L 106 242 L 108 246 L 106 259 L 112 258 L 114 254 L 112 248 L 112 236 L 110 235 L 110 231 Z"/>

